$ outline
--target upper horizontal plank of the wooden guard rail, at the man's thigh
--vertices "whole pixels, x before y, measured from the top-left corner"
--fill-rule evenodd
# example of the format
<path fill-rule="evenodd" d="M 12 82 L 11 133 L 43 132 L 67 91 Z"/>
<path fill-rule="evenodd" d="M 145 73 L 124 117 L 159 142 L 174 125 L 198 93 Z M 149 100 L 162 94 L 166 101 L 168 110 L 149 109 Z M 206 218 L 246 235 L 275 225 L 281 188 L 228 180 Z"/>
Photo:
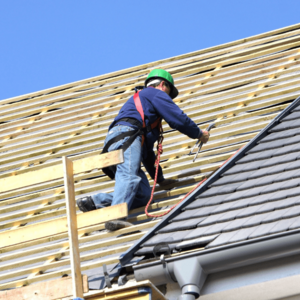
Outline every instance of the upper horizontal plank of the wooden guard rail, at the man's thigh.
<path fill-rule="evenodd" d="M 74 174 L 101 169 L 113 164 L 124 162 L 123 150 L 111 151 L 74 161 Z M 63 177 L 63 166 L 61 164 L 37 170 L 28 174 L 20 174 L 0 180 L 0 193 L 28 185 L 38 184 Z"/>

